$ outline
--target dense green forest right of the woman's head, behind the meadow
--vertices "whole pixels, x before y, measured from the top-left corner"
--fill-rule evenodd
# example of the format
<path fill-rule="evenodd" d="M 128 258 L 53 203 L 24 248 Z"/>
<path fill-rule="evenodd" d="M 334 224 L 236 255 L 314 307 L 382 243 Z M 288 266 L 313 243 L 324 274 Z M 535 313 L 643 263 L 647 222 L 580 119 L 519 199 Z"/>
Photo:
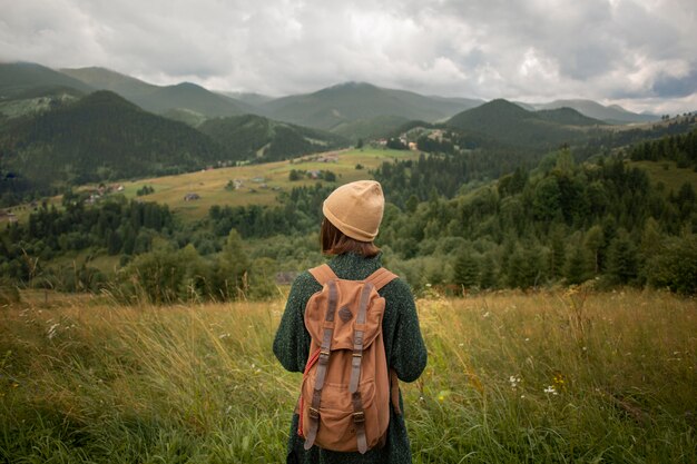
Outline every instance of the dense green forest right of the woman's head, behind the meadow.
<path fill-rule="evenodd" d="M 598 278 L 605 286 L 697 292 L 690 184 L 661 191 L 621 159 L 576 165 L 562 150 L 547 168 L 549 159 L 533 174 L 518 169 L 448 199 L 455 175 L 434 168 L 451 166 L 440 165 L 444 159 L 380 171 L 385 190 L 394 188 L 403 203 L 385 215 L 381 243 L 412 285 L 529 288 Z"/>

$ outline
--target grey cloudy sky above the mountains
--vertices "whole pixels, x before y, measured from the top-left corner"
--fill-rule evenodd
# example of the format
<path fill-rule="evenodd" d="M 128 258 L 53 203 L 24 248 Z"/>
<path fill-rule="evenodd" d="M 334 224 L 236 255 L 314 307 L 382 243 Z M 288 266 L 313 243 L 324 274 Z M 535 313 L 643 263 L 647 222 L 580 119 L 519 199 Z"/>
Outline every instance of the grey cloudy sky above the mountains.
<path fill-rule="evenodd" d="M 0 60 L 273 96 L 345 81 L 697 110 L 695 0 L 0 0 Z"/>

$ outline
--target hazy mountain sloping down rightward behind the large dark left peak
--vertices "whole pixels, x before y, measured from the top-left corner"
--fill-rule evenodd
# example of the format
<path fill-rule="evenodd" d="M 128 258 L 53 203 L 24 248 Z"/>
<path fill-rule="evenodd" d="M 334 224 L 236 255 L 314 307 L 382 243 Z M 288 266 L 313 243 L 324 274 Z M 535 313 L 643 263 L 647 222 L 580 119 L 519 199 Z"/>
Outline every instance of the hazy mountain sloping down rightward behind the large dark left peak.
<path fill-rule="evenodd" d="M 252 105 L 190 82 L 160 87 L 104 68 L 61 69 L 61 72 L 92 88 L 111 90 L 140 108 L 157 113 L 184 109 L 215 118 L 259 111 Z"/>

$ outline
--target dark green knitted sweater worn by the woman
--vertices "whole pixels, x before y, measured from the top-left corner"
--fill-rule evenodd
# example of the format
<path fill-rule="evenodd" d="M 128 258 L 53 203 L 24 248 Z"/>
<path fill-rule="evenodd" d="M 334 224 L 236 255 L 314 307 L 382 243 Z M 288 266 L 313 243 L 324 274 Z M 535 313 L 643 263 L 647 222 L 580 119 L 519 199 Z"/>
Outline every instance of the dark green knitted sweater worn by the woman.
<path fill-rule="evenodd" d="M 380 256 L 364 258 L 354 254 L 336 256 L 328 264 L 338 278 L 352 280 L 362 280 L 382 266 Z M 321 289 L 320 284 L 307 272 L 301 274 L 293 283 L 274 340 L 274 354 L 287 371 L 303 372 L 305 368 L 311 339 L 303 316 L 307 300 Z M 392 280 L 380 290 L 380 295 L 386 300 L 382 328 L 387 364 L 396 371 L 401 381 L 413 382 L 419 378 L 426 365 L 426 349 L 419 328 L 414 298 L 409 286 L 401 279 Z M 404 411 L 403 407 L 402 411 Z M 390 413 L 385 446 L 371 450 L 364 455 L 331 452 L 320 450 L 317 446 L 306 452 L 303 448 L 303 438 L 297 436 L 297 422 L 298 416 L 294 414 L 288 441 L 288 463 L 404 464 L 412 462 L 404 417 L 396 415 L 394 411 Z"/>

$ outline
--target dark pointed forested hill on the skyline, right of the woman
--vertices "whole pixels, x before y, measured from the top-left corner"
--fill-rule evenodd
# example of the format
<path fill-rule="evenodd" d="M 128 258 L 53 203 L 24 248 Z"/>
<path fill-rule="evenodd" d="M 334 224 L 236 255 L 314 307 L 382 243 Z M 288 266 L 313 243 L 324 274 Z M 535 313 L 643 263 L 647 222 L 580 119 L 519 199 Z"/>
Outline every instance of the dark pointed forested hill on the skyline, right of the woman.
<path fill-rule="evenodd" d="M 527 148 L 556 148 L 581 140 L 585 132 L 567 126 L 570 119 L 588 125 L 588 118 L 569 111 L 539 115 L 498 99 L 452 117 L 446 125 L 464 134 L 485 136 L 500 144 Z"/>

